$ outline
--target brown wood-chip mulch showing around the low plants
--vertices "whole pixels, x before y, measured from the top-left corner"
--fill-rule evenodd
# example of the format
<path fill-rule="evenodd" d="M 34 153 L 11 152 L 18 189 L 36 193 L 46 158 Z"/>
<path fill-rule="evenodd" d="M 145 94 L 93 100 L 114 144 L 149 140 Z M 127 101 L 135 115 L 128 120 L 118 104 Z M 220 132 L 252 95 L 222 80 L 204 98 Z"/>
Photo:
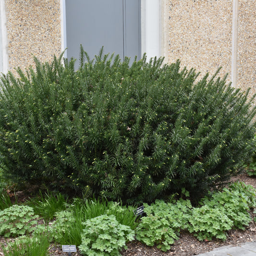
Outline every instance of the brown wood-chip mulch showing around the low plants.
<path fill-rule="evenodd" d="M 246 184 L 251 184 L 256 188 L 256 178 L 249 177 L 246 173 L 243 173 L 233 180 L 243 181 Z M 23 193 L 18 194 L 21 201 L 25 200 L 25 195 Z M 253 211 L 251 215 L 254 217 Z M 12 239 L 4 239 L 0 237 L 0 244 L 6 245 L 8 241 Z M 251 221 L 250 225 L 246 227 L 244 231 L 241 230 L 231 230 L 228 232 L 228 239 L 226 241 L 212 240 L 212 241 L 198 241 L 192 234 L 188 232 L 181 232 L 180 239 L 171 246 L 171 250 L 168 252 L 162 252 L 156 246 L 149 247 L 138 241 L 133 241 L 127 244 L 127 249 L 123 249 L 122 256 L 193 256 L 197 254 L 202 254 L 213 250 L 214 248 L 220 246 L 237 246 L 247 242 L 256 241 L 256 223 Z M 50 256 L 63 255 L 67 256 L 67 253 L 63 253 L 61 246 L 51 245 Z M 73 253 L 73 256 L 81 256 L 79 251 Z M 0 256 L 3 256 L 2 250 L 0 248 Z"/>

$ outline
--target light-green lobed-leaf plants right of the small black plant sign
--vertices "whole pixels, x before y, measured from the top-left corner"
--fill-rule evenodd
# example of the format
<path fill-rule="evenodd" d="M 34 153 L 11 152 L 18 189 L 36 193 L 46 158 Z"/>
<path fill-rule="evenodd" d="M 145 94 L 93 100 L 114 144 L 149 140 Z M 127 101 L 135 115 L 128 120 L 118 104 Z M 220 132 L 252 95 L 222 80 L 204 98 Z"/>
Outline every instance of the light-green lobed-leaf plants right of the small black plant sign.
<path fill-rule="evenodd" d="M 197 207 L 188 199 L 145 204 L 147 216 L 141 218 L 136 239 L 149 246 L 157 244 L 162 251 L 171 248 L 181 230 L 188 230 L 200 241 L 225 240 L 227 231 L 244 230 L 252 221 L 249 209 L 256 206 L 255 196 L 252 186 L 234 183 L 221 192 L 209 193 Z"/>

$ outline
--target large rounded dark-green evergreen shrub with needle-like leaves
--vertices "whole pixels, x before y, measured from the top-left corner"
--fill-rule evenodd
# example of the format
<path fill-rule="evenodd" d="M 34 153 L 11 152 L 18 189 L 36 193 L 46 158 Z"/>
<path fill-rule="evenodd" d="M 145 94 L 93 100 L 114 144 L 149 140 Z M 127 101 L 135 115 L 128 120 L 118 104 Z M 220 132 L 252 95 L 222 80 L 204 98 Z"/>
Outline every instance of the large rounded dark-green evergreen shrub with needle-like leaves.
<path fill-rule="evenodd" d="M 16 182 L 111 200 L 201 194 L 236 175 L 254 151 L 248 91 L 163 59 L 103 55 L 80 68 L 55 58 L 1 77 L 0 159 Z"/>

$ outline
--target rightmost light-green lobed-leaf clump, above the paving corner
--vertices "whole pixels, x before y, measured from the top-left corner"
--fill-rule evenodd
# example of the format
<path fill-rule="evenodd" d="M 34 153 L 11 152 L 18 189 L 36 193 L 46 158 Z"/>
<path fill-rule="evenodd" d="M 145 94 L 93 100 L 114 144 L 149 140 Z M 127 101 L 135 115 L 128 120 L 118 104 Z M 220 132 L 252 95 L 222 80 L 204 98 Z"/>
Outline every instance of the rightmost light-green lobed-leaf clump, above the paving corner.
<path fill-rule="evenodd" d="M 245 229 L 252 220 L 249 209 L 256 206 L 256 190 L 244 183 L 234 183 L 223 191 L 202 199 L 202 207 L 194 208 L 189 218 L 188 230 L 198 240 L 213 237 L 225 240 L 226 231 Z M 216 221 L 216 219 L 220 221 Z"/>

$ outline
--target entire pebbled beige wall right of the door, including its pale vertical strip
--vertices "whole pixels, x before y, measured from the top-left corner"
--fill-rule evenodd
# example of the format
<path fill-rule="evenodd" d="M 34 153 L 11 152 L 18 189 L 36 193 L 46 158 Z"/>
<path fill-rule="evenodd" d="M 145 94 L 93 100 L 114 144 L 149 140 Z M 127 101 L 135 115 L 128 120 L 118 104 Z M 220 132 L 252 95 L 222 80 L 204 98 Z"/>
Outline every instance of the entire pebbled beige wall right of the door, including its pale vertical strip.
<path fill-rule="evenodd" d="M 251 96 L 256 93 L 255 0 L 170 0 L 169 4 L 169 62 L 180 59 L 182 66 L 202 75 L 214 74 L 221 66 L 220 76 L 229 73 L 228 82 L 236 80 L 235 87 L 251 87 Z"/>

